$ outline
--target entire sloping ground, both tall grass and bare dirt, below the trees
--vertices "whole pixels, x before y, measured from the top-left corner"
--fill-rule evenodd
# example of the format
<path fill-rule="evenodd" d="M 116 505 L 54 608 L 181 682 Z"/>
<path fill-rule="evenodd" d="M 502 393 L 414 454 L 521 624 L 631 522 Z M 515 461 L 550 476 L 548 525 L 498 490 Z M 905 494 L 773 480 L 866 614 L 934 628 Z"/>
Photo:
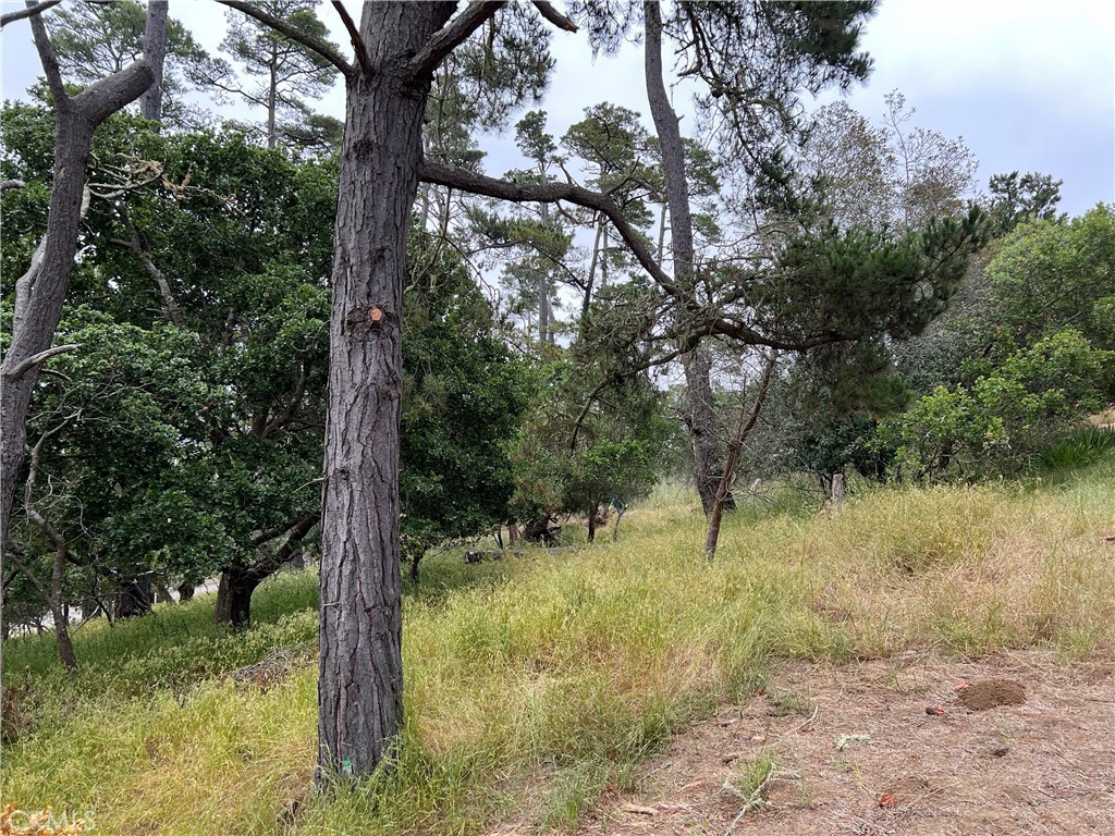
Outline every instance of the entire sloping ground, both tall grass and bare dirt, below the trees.
<path fill-rule="evenodd" d="M 83 628 L 75 679 L 51 660 L 48 641 L 21 639 L 4 652 L 11 725 L 0 795 L 25 809 L 91 811 L 94 833 L 129 836 L 610 832 L 642 819 L 591 817 L 643 798 L 692 807 L 695 826 L 705 816 L 714 833 L 750 797 L 748 774 L 759 776 L 757 788 L 773 768 L 802 778 L 772 779 L 756 796 L 770 807 L 756 806 L 737 829 L 928 834 L 961 826 L 941 813 L 934 829 L 929 818 L 963 798 L 948 769 L 962 782 L 978 767 L 1014 768 L 1025 752 L 1044 751 L 1044 768 L 1061 782 L 1019 774 L 1017 791 L 1054 794 L 1045 810 L 1040 799 L 1032 805 L 1045 813 L 1075 799 L 1082 818 L 1072 826 L 1099 827 L 1084 816 L 1105 809 L 1109 774 L 1098 770 L 1109 736 L 1092 733 L 1095 716 L 1068 697 L 1109 688 L 1088 679 L 1087 665 L 1111 659 L 1115 641 L 1115 542 L 1105 539 L 1113 494 L 1108 459 L 1026 485 L 865 490 L 838 513 L 745 511 L 727 522 L 711 565 L 700 552 L 702 518 L 677 500 L 632 511 L 620 542 L 600 548 L 477 566 L 445 553 L 424 564 L 423 584 L 405 601 L 400 756 L 329 797 L 310 787 L 312 573 L 261 587 L 256 625 L 239 634 L 212 624 L 204 599 Z M 1028 655 L 1035 650 L 1056 663 Z M 1019 681 L 1027 699 L 969 717 L 952 688 L 985 673 L 947 665 L 988 658 L 998 661 L 979 662 L 997 667 L 986 674 Z M 1009 669 L 1030 659 L 1043 660 L 1032 675 Z M 871 684 L 892 669 L 898 688 Z M 1065 698 L 1063 713 L 1040 713 L 1051 694 Z M 741 752 L 719 766 L 744 797 L 724 795 L 715 770 L 690 795 L 666 790 L 692 781 L 658 789 L 640 771 L 647 758 L 671 735 L 720 730 L 714 722 L 694 732 L 692 723 L 725 704 L 741 707 L 726 733 L 749 733 L 701 757 Z M 947 713 L 925 715 L 933 706 Z M 770 717 L 769 729 L 747 719 L 772 708 L 785 717 Z M 996 717 L 1016 742 L 986 761 Z M 1073 723 L 1084 742 L 1069 752 Z M 960 737 L 941 738 L 934 754 L 932 736 L 946 732 Z M 846 741 L 844 769 L 831 751 L 840 735 L 871 735 Z M 639 790 L 648 795 L 630 795 Z M 885 793 L 893 806 L 873 806 Z M 1041 833 L 1037 816 L 1019 827 Z M 996 827 L 972 832 L 1014 825 Z"/>

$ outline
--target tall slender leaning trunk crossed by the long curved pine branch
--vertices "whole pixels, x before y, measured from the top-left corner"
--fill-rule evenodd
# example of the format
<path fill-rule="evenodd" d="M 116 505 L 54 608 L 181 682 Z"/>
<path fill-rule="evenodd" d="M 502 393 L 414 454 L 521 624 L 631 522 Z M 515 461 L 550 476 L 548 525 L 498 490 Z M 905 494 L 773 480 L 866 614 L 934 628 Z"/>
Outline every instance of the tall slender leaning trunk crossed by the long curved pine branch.
<path fill-rule="evenodd" d="M 673 280 L 688 299 L 691 310 L 697 309 L 696 276 L 694 271 L 694 226 L 689 213 L 689 183 L 686 176 L 685 148 L 678 116 L 673 111 L 666 85 L 662 81 L 662 19 L 657 2 L 643 3 L 647 46 L 647 98 L 655 128 L 662 147 L 662 175 L 666 181 L 666 203 L 670 213 L 670 241 L 673 256 Z M 712 513 L 716 490 L 720 482 L 720 450 L 716 437 L 716 411 L 712 407 L 711 362 L 708 352 L 698 344 L 682 361 L 686 373 L 686 393 L 689 440 L 694 454 L 694 483 L 700 495 L 705 514 Z M 730 495 L 729 495 L 730 497 Z M 726 499 L 734 504 L 731 499 Z"/>

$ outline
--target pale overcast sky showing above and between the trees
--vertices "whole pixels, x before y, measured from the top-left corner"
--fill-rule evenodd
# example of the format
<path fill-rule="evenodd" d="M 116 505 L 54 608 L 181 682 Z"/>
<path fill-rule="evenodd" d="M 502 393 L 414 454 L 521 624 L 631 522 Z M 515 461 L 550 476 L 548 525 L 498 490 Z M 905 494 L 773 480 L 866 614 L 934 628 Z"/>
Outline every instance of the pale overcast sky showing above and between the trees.
<path fill-rule="evenodd" d="M 2 6 L 10 11 L 22 3 Z M 358 12 L 356 0 L 348 6 Z M 333 9 L 326 3 L 320 13 L 333 39 L 347 45 Z M 223 8 L 210 0 L 171 0 L 171 14 L 215 50 L 224 33 Z M 41 75 L 30 28 L 20 21 L 0 37 L 3 96 L 18 97 Z M 1000 172 L 1043 172 L 1065 181 L 1061 208 L 1070 214 L 1115 201 L 1111 0 L 884 0 L 867 23 L 864 46 L 874 71 L 849 98 L 864 115 L 878 120 L 883 96 L 899 89 L 917 108 L 915 126 L 963 137 L 980 161 L 981 185 Z M 555 32 L 553 51 L 558 69 L 542 105 L 551 133 L 560 136 L 600 101 L 639 110 L 649 126 L 640 49 L 593 61 L 583 35 Z M 675 103 L 681 111 L 688 109 L 683 98 L 679 91 Z M 340 86 L 321 109 L 343 116 Z M 493 174 L 520 164 L 508 137 L 485 138 L 484 147 Z"/>

